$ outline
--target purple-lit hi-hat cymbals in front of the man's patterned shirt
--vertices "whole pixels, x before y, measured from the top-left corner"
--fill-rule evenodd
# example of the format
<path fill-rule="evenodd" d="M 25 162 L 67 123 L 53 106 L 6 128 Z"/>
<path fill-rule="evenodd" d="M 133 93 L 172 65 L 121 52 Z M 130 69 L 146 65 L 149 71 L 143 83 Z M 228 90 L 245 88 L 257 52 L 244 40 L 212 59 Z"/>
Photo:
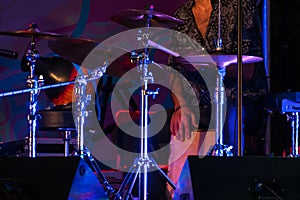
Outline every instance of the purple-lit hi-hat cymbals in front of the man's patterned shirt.
<path fill-rule="evenodd" d="M 193 55 L 193 56 L 187 56 L 185 57 L 185 59 L 192 64 L 198 64 L 198 65 L 205 64 L 205 63 L 215 63 L 218 68 L 225 68 L 228 65 L 237 63 L 237 55 L 226 55 L 226 54 Z M 244 64 L 261 62 L 262 60 L 263 59 L 261 57 L 248 56 L 248 55 L 242 56 L 242 63 Z"/>

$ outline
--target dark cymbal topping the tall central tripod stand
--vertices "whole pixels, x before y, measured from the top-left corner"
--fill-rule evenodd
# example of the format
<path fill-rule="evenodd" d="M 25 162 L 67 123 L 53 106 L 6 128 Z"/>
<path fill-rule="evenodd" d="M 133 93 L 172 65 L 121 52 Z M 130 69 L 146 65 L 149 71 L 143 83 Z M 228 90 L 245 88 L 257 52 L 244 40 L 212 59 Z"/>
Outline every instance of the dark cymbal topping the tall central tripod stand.
<path fill-rule="evenodd" d="M 145 27 L 147 23 L 147 15 L 152 14 L 150 19 L 150 27 L 172 28 L 183 24 L 180 19 L 169 15 L 150 10 L 124 9 L 114 14 L 111 20 L 128 28 Z"/>

